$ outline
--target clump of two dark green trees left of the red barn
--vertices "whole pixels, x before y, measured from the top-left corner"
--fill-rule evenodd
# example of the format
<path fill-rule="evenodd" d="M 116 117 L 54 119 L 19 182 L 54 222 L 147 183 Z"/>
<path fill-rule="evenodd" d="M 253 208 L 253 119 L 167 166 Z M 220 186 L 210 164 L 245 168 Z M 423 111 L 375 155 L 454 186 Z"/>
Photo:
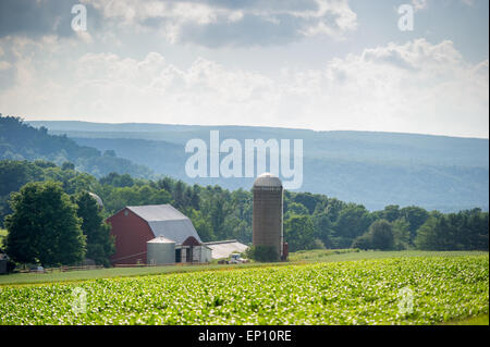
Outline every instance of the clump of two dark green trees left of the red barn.
<path fill-rule="evenodd" d="M 91 259 L 110 265 L 114 241 L 88 191 L 69 196 L 59 183 L 30 182 L 11 195 L 10 205 L 4 247 L 13 261 L 52 267 Z"/>

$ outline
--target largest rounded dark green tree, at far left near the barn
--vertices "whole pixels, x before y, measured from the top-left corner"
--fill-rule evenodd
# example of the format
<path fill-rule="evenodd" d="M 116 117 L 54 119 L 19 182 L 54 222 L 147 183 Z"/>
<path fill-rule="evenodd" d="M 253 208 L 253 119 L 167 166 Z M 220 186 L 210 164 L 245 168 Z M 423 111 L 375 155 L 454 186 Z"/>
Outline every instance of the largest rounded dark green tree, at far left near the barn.
<path fill-rule="evenodd" d="M 74 264 L 86 251 L 76 206 L 54 182 L 28 183 L 12 194 L 7 253 L 16 262 Z"/>

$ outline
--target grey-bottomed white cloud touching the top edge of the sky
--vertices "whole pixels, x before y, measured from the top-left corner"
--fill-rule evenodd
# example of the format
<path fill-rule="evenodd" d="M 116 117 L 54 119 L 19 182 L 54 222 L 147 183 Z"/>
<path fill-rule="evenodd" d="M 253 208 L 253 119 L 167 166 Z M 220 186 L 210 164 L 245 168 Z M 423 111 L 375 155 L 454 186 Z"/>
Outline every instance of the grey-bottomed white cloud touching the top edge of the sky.
<path fill-rule="evenodd" d="M 157 28 L 170 42 L 201 46 L 274 45 L 318 35 L 343 39 L 357 28 L 357 15 L 347 0 L 83 2 L 99 10 L 117 27 Z"/>

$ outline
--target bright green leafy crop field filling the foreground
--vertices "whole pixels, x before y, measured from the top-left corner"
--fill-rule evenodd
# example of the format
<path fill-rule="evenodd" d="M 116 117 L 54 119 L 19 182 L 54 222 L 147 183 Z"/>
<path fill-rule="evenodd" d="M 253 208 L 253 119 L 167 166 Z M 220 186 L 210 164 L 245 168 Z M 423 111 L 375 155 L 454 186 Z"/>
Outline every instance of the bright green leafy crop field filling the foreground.
<path fill-rule="evenodd" d="M 488 313 L 488 253 L 0 287 L 0 324 L 440 324 Z"/>

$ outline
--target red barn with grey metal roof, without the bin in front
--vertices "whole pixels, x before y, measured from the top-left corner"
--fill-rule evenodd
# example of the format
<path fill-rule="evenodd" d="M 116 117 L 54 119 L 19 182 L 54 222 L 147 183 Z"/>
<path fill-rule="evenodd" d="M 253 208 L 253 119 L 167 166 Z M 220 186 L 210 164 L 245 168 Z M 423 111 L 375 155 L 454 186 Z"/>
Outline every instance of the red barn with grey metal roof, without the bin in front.
<path fill-rule="evenodd" d="M 128 206 L 107 219 L 115 237 L 113 264 L 145 263 L 147 241 L 156 237 L 183 245 L 189 237 L 201 243 L 191 220 L 170 205 Z"/>

